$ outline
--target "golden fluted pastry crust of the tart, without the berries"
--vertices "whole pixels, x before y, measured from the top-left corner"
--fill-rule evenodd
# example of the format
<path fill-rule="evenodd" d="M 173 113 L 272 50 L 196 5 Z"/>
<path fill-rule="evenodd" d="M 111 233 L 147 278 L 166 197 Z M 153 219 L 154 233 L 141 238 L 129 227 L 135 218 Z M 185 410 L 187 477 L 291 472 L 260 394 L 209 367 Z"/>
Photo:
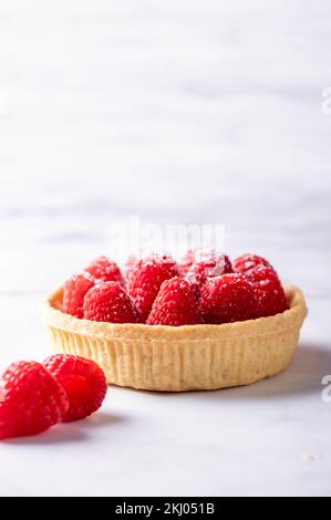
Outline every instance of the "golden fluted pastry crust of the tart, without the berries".
<path fill-rule="evenodd" d="M 290 364 L 307 314 L 302 292 L 285 285 L 289 310 L 221 325 L 112 324 L 62 312 L 63 289 L 42 309 L 53 346 L 94 360 L 108 384 L 146 391 L 215 389 L 255 383 Z"/>

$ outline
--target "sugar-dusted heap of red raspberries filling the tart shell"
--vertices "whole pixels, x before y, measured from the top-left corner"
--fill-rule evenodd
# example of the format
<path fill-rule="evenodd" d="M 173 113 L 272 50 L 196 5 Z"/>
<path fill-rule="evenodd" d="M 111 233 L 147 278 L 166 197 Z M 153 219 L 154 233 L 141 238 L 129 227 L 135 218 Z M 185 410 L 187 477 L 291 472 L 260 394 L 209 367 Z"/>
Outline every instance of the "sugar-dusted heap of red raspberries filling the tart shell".
<path fill-rule="evenodd" d="M 221 324 L 271 316 L 288 309 L 268 260 L 242 254 L 232 262 L 214 249 L 131 256 L 124 273 L 100 257 L 64 283 L 63 312 L 79 319 L 148 325 Z"/>

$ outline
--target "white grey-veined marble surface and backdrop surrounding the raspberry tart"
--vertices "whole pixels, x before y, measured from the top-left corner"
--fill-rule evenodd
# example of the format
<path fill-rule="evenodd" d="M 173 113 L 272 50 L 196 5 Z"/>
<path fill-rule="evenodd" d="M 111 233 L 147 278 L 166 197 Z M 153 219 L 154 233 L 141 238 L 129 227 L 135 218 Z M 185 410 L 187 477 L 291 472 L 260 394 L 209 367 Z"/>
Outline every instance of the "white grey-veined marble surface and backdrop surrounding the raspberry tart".
<path fill-rule="evenodd" d="M 330 25 L 328 0 L 1 2 L 1 370 L 49 354 L 40 300 L 131 215 L 225 223 L 310 315 L 268 382 L 111 388 L 2 443 L 0 495 L 331 495 Z"/>

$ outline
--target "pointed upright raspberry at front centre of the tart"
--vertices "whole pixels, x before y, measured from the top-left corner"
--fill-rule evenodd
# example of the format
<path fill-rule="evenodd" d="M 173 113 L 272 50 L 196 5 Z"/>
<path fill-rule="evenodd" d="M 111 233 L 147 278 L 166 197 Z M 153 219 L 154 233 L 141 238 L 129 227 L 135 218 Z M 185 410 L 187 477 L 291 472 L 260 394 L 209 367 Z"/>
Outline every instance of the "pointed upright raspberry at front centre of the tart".
<path fill-rule="evenodd" d="M 180 326 L 196 323 L 201 323 L 201 318 L 190 284 L 178 277 L 163 282 L 147 324 Z"/>

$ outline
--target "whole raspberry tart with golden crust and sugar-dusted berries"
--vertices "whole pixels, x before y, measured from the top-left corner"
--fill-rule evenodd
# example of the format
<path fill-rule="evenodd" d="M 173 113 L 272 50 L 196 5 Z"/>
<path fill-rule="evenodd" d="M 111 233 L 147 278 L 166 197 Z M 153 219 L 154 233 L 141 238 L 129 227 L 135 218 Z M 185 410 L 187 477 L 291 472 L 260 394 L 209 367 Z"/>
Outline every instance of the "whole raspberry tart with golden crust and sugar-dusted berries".
<path fill-rule="evenodd" d="M 107 383 L 183 392 L 248 385 L 290 364 L 307 314 L 302 292 L 269 261 L 213 250 L 105 257 L 43 305 L 55 352 L 95 361 Z"/>

